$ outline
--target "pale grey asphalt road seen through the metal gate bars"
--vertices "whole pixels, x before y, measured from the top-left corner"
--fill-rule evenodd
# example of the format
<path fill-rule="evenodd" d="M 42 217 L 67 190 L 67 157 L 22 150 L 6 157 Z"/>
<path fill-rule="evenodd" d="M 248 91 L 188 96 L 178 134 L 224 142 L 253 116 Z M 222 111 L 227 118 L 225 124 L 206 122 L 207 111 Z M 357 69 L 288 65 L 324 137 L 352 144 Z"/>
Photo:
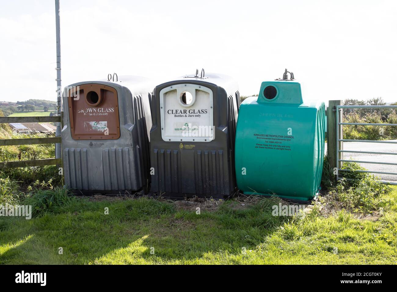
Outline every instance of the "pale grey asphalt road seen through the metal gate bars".
<path fill-rule="evenodd" d="M 397 140 L 389 140 L 389 141 L 397 141 Z M 397 144 L 343 142 L 343 150 L 397 153 Z M 384 154 L 343 152 L 343 159 L 397 163 L 397 155 L 384 155 Z M 397 165 L 373 164 L 373 163 L 360 163 L 360 165 L 370 171 L 397 173 Z M 391 175 L 391 174 L 375 174 L 375 175 L 380 176 L 380 178 L 385 181 L 397 182 L 397 175 Z"/>

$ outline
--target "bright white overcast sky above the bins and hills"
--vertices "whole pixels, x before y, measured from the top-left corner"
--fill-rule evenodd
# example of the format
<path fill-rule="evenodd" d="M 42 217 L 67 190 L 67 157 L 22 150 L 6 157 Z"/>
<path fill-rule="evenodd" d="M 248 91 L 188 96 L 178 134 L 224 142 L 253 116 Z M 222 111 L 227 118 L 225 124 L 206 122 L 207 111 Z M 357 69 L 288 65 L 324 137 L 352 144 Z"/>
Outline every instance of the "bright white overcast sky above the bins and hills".
<path fill-rule="evenodd" d="M 56 100 L 54 0 L 1 0 L 0 101 Z M 397 1 L 61 0 L 62 86 L 108 73 L 293 71 L 303 98 L 397 101 Z"/>

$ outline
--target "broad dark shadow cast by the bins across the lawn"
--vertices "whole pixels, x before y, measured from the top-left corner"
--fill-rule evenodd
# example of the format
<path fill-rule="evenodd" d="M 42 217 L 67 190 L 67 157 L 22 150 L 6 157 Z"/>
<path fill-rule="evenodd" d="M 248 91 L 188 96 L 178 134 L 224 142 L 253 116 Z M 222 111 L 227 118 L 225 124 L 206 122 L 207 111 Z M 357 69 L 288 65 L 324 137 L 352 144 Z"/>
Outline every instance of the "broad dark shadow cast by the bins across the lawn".
<path fill-rule="evenodd" d="M 214 212 L 176 211 L 172 203 L 140 198 L 87 202 L 67 213 L 0 223 L 1 264 L 211 263 L 210 255 L 241 255 L 283 224 L 278 199 L 247 209 L 227 201 Z M 105 215 L 109 208 L 109 215 Z M 0 221 L 1 222 L 1 221 Z M 59 248 L 63 253 L 59 254 Z M 238 262 L 238 259 L 236 259 Z"/>

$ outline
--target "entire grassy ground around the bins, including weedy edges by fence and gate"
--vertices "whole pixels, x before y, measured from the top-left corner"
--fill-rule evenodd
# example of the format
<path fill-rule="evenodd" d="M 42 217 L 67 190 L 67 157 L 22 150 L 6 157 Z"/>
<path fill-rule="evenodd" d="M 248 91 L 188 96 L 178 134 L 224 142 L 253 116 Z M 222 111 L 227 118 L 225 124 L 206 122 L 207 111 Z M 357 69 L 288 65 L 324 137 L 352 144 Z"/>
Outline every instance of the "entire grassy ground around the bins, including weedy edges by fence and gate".
<path fill-rule="evenodd" d="M 273 216 L 275 197 L 74 197 L 51 179 L 0 174 L 0 205 L 33 211 L 0 217 L 0 264 L 397 263 L 397 187 L 361 173 L 336 184 L 327 158 L 320 207 L 331 211 L 305 217 Z"/>

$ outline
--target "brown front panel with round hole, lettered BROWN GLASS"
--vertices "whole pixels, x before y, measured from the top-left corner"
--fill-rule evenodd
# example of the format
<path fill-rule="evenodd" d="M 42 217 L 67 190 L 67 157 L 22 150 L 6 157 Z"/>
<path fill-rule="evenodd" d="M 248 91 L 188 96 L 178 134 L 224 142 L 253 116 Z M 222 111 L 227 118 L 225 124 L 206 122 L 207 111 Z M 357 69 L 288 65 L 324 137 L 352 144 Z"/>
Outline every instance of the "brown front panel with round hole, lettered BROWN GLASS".
<path fill-rule="evenodd" d="M 78 99 L 69 90 L 70 131 L 75 140 L 105 140 L 120 137 L 120 121 L 117 91 L 102 84 L 83 84 Z M 108 135 L 106 135 L 108 130 Z"/>

